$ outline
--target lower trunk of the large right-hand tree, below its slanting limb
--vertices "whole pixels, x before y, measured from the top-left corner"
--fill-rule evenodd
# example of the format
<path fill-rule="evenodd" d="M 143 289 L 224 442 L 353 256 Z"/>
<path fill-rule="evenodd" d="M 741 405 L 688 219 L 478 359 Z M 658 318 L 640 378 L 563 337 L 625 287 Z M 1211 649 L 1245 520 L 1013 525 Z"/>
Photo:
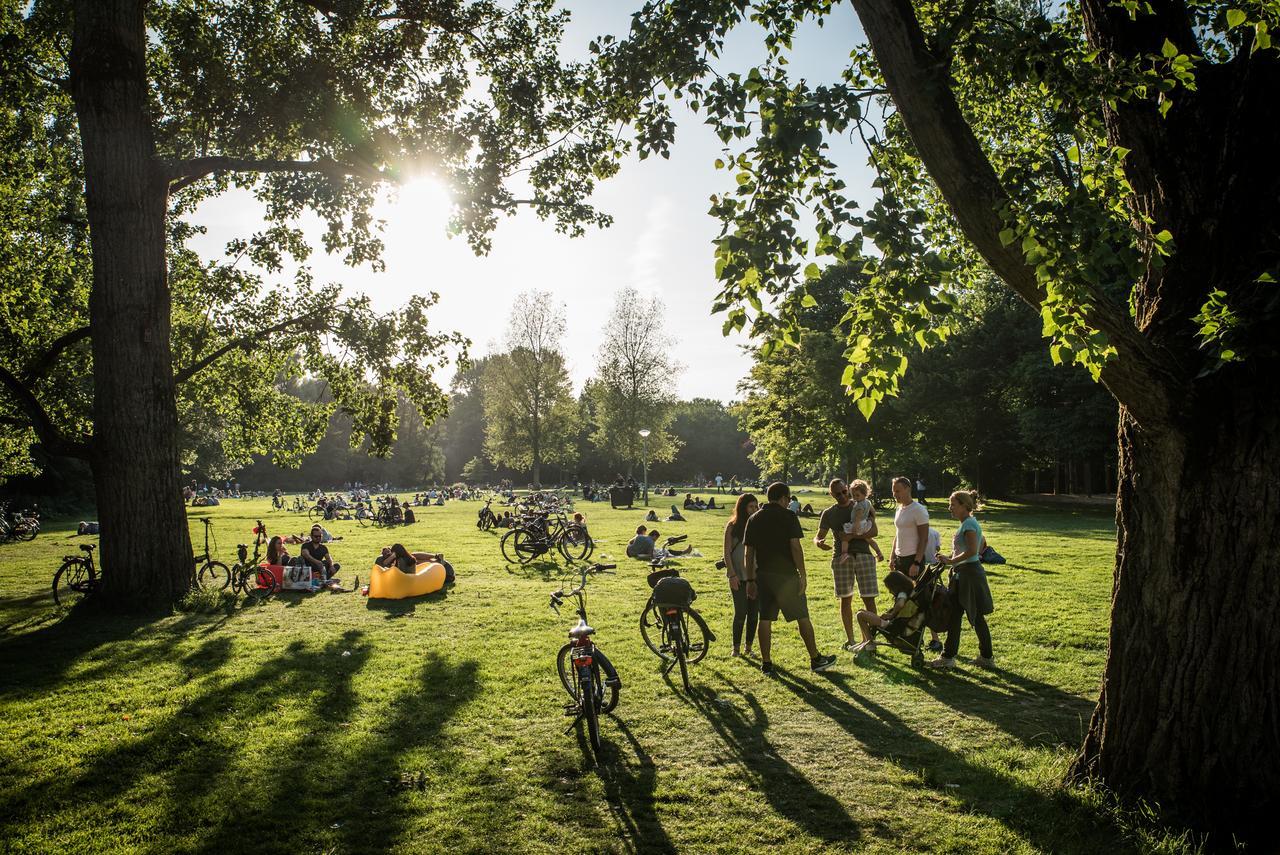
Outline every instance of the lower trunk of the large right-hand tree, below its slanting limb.
<path fill-rule="evenodd" d="M 1121 408 L 1111 644 L 1074 765 L 1256 841 L 1275 838 L 1280 792 L 1280 407 L 1263 367 L 1215 379 L 1181 431 Z"/>

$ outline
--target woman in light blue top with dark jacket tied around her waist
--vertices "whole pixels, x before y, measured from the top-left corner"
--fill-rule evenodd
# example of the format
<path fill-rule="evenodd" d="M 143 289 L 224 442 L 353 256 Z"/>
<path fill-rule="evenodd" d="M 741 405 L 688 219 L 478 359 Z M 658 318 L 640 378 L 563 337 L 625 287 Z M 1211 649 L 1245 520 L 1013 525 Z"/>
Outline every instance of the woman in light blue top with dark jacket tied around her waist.
<path fill-rule="evenodd" d="M 978 509 L 977 491 L 956 490 L 951 494 L 948 506 L 951 517 L 960 521 L 951 541 L 951 554 L 937 554 L 938 563 L 955 568 L 951 581 L 951 623 L 947 627 L 947 641 L 942 655 L 929 663 L 933 668 L 955 668 L 956 654 L 960 651 L 961 618 L 969 618 L 969 626 L 978 636 L 978 655 L 972 659 L 979 668 L 995 668 L 996 658 L 991 648 L 991 628 L 987 616 L 996 607 L 991 599 L 991 586 L 987 572 L 978 559 L 982 545 L 982 526 L 973 516 Z"/>

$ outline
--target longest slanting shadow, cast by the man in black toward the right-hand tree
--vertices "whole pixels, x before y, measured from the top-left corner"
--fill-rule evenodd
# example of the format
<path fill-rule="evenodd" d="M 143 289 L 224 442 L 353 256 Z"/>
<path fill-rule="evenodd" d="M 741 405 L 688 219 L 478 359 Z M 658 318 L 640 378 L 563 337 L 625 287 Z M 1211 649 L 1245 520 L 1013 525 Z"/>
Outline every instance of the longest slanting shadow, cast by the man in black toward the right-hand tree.
<path fill-rule="evenodd" d="M 991 817 L 1038 849 L 1097 852 L 1123 846 L 1120 831 L 1107 817 L 1065 795 L 1051 797 L 934 742 L 855 691 L 845 675 L 826 675 L 823 685 L 817 685 L 786 668 L 776 667 L 774 673 L 782 686 L 858 740 L 869 755 L 920 771 L 925 785 L 940 795 L 959 800 L 968 811 Z"/>

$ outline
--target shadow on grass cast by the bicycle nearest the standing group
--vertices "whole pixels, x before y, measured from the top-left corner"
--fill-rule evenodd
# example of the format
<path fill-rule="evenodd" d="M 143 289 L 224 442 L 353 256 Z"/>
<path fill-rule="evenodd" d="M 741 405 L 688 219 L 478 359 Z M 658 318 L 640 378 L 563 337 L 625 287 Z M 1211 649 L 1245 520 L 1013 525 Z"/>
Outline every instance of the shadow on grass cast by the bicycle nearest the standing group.
<path fill-rule="evenodd" d="M 859 840 L 861 828 L 845 806 L 813 786 L 809 778 L 773 747 L 765 735 L 769 717 L 755 695 L 739 689 L 727 677 L 723 680 L 746 703 L 749 713 L 740 710 L 736 704 L 719 703 L 701 687 L 678 696 L 707 719 L 733 753 L 751 777 L 753 791 L 764 796 L 780 817 L 786 817 L 818 840 L 842 845 Z"/>

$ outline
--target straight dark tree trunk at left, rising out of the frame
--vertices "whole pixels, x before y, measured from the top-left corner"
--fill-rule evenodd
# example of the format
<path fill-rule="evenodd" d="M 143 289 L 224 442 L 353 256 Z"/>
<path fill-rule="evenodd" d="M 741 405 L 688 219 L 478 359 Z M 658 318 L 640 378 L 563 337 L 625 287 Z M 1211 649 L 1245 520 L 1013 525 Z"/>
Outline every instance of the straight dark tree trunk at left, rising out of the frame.
<path fill-rule="evenodd" d="M 155 157 L 140 0 L 81 0 L 72 92 L 93 257 L 93 451 L 102 599 L 166 608 L 193 581 L 169 353 L 166 183 Z"/>

